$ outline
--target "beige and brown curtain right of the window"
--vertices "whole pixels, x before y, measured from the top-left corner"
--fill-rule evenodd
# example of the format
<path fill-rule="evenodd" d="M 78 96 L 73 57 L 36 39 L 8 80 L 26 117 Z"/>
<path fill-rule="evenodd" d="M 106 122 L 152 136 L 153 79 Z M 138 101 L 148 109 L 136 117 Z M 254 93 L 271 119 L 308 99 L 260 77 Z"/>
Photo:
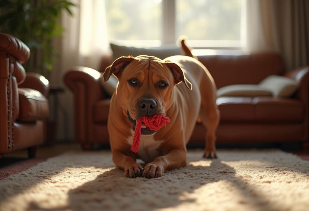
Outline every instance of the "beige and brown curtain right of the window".
<path fill-rule="evenodd" d="M 309 65 L 309 1 L 247 0 L 246 50 L 281 53 L 286 70 Z"/>

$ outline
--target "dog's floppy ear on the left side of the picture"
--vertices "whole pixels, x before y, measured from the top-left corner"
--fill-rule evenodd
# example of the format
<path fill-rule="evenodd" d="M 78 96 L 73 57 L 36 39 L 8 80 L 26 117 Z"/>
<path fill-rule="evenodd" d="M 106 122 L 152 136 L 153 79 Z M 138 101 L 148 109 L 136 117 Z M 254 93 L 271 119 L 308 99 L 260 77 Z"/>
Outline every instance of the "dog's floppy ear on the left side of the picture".
<path fill-rule="evenodd" d="M 106 67 L 103 78 L 106 82 L 112 74 L 118 78 L 125 67 L 134 60 L 133 56 L 122 56 L 116 59 L 110 66 Z"/>

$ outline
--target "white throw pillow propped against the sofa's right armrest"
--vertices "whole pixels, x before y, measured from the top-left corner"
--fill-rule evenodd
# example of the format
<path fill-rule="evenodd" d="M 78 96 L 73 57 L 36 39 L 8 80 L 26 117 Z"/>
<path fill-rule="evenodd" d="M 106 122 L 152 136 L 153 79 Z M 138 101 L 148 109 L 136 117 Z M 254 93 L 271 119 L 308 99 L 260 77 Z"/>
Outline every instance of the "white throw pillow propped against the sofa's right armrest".
<path fill-rule="evenodd" d="M 279 75 L 269 75 L 259 85 L 271 90 L 275 97 L 290 97 L 298 88 L 295 80 Z"/>

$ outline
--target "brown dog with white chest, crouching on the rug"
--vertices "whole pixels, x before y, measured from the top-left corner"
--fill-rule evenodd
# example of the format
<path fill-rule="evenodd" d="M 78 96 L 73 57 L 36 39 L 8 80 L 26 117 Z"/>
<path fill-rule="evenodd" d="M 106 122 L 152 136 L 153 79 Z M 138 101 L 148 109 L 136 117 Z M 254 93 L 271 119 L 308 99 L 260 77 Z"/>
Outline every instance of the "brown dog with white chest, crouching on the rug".
<path fill-rule="evenodd" d="M 161 177 L 165 170 L 186 166 L 186 144 L 197 118 L 206 128 L 204 157 L 217 157 L 216 86 L 202 63 L 188 56 L 128 56 L 107 67 L 104 80 L 112 74 L 119 83 L 111 99 L 108 132 L 113 161 L 125 177 Z M 158 131 L 142 125 L 140 148 L 132 152 L 136 120 L 155 114 L 166 114 L 170 123 Z M 146 163 L 144 168 L 137 158 Z"/>

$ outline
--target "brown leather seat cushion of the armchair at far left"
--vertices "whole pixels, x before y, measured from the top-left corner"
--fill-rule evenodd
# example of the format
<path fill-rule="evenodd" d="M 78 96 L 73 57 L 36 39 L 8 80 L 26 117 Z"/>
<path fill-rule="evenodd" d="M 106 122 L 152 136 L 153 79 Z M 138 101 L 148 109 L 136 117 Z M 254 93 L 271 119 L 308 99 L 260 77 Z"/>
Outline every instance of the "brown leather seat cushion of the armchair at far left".
<path fill-rule="evenodd" d="M 36 121 L 49 116 L 48 100 L 34 89 L 19 88 L 19 118 L 21 121 Z"/>

